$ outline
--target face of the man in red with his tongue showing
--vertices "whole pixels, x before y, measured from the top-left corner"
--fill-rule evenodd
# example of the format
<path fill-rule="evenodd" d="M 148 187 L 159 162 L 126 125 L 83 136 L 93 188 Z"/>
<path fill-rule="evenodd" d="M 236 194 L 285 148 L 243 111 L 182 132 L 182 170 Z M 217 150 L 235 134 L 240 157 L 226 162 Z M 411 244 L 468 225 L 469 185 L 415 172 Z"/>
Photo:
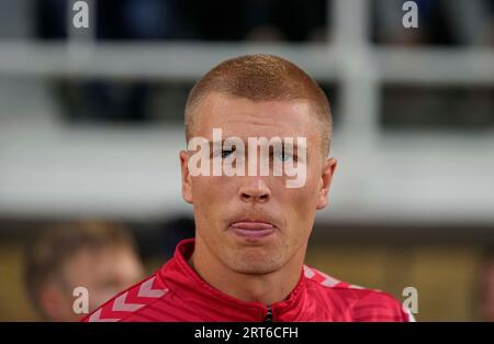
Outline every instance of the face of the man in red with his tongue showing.
<path fill-rule="evenodd" d="M 315 211 L 327 204 L 336 166 L 334 159 L 323 158 L 318 121 L 307 102 L 255 102 L 211 93 L 195 111 L 192 135 L 211 142 L 213 129 L 222 129 L 223 138 L 242 138 L 246 151 L 248 137 L 294 137 L 294 142 L 306 137 L 307 145 L 306 159 L 299 162 L 306 165 L 305 184 L 300 188 L 288 188 L 287 179 L 293 177 L 273 176 L 272 170 L 269 176 L 193 177 L 187 166 L 191 153 L 181 152 L 183 198 L 193 204 L 198 241 L 242 274 L 276 271 L 296 254 L 303 259 Z M 211 159 L 222 158 L 216 152 L 212 155 Z"/>

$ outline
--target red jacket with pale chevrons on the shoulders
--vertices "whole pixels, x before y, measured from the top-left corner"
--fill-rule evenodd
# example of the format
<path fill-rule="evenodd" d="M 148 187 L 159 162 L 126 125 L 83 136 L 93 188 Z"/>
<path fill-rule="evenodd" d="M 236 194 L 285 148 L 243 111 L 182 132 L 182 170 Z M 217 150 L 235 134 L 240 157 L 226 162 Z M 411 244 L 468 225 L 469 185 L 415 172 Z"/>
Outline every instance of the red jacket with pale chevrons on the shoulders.
<path fill-rule="evenodd" d="M 82 321 L 411 321 L 390 295 L 339 281 L 303 266 L 289 297 L 245 302 L 205 282 L 187 263 L 193 240 L 177 245 L 156 274 L 122 291 Z"/>

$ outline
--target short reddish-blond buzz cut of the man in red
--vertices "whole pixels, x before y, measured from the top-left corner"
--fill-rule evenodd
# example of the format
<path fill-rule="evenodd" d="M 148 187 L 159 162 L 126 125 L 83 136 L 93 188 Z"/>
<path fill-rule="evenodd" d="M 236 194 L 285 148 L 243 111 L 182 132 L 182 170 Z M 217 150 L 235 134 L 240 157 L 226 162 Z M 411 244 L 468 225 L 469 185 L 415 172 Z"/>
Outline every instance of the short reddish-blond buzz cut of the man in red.
<path fill-rule="evenodd" d="M 333 120 L 329 101 L 304 70 L 267 54 L 244 55 L 222 62 L 195 82 L 186 103 L 186 140 L 193 136 L 198 106 L 211 92 L 252 101 L 307 101 L 321 129 L 322 154 L 327 157 Z"/>

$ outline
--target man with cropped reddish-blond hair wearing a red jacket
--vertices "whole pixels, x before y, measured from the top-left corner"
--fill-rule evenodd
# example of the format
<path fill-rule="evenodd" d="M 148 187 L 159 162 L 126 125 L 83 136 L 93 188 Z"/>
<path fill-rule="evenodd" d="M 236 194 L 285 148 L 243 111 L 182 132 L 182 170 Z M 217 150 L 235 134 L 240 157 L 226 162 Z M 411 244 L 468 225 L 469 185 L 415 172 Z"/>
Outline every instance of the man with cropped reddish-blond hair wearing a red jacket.
<path fill-rule="evenodd" d="M 236 144 L 217 142 L 218 131 Z M 304 264 L 315 213 L 328 204 L 336 168 L 328 158 L 330 133 L 326 96 L 293 63 L 247 55 L 214 67 L 186 106 L 187 141 L 201 137 L 205 145 L 199 151 L 207 148 L 198 159 L 202 173 L 190 164 L 198 154 L 194 145 L 179 153 L 182 197 L 193 207 L 195 237 L 180 242 L 156 274 L 85 320 L 408 321 L 390 295 Z M 289 169 L 281 175 L 214 173 L 215 166 L 257 160 L 247 143 L 259 137 L 302 138 L 302 151 L 269 147 L 267 156 L 270 169 L 277 162 L 303 166 L 303 185 L 287 186 L 293 178 Z"/>

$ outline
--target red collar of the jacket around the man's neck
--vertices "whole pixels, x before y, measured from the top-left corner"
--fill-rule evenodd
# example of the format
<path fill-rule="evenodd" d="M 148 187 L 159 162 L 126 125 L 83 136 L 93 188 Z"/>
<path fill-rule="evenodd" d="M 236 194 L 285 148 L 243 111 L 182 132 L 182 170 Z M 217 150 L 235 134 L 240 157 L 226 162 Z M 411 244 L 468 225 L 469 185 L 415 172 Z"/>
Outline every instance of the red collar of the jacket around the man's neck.
<path fill-rule="evenodd" d="M 262 321 L 268 312 L 268 306 L 261 302 L 246 302 L 233 298 L 203 280 L 187 263 L 194 251 L 194 240 L 181 241 L 175 251 L 172 259 L 159 271 L 167 287 L 192 309 L 207 309 L 210 314 L 216 314 L 224 321 Z M 300 320 L 306 300 L 306 285 L 303 269 L 295 288 L 283 301 L 270 306 L 273 321 Z M 217 319 L 212 319 L 217 320 Z"/>

